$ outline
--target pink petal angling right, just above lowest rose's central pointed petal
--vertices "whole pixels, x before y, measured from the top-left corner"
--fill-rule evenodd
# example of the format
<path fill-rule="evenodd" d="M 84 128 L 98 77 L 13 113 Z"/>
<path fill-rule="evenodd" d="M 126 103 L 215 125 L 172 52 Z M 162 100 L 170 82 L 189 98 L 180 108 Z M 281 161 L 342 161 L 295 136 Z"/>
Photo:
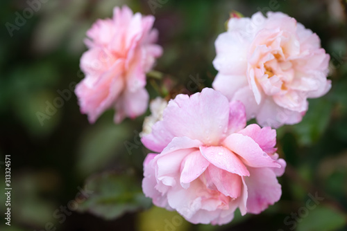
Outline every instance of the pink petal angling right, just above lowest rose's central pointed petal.
<path fill-rule="evenodd" d="M 240 133 L 232 133 L 223 141 L 223 145 L 238 156 L 241 156 L 247 166 L 280 167 L 280 165 L 269 157 L 249 136 L 244 136 Z"/>

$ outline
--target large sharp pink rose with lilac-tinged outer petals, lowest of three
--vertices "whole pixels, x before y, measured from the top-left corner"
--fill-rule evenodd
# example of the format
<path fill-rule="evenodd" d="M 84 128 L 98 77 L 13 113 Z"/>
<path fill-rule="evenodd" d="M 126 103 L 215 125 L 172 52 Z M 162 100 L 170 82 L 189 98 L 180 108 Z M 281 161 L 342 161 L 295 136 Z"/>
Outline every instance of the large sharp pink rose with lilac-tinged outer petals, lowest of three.
<path fill-rule="evenodd" d="M 159 153 L 144 160 L 144 194 L 192 223 L 228 223 L 237 207 L 242 215 L 265 210 L 280 199 L 276 176 L 286 163 L 275 130 L 245 126 L 243 104 L 218 91 L 177 95 L 142 138 Z"/>

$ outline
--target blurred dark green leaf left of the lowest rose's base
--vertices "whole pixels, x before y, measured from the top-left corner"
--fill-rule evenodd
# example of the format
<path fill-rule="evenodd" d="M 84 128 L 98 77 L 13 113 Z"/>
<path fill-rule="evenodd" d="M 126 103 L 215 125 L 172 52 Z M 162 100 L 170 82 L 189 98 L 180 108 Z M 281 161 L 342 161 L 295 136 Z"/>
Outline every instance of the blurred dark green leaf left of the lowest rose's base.
<path fill-rule="evenodd" d="M 107 172 L 90 178 L 85 188 L 94 192 L 78 205 L 78 211 L 88 211 L 104 219 L 116 219 L 151 205 L 151 199 L 144 196 L 141 183 L 133 176 Z"/>

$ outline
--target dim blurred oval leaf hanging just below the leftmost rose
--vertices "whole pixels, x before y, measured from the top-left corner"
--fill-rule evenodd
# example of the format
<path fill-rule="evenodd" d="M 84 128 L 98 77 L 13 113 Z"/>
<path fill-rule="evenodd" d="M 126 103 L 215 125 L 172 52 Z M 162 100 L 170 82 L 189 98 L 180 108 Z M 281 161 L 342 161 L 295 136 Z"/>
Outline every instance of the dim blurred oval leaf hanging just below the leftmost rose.
<path fill-rule="evenodd" d="M 80 142 L 77 169 L 82 176 L 92 174 L 119 155 L 126 155 L 124 141 L 130 138 L 128 124 L 112 120 L 96 123 L 86 131 Z"/>

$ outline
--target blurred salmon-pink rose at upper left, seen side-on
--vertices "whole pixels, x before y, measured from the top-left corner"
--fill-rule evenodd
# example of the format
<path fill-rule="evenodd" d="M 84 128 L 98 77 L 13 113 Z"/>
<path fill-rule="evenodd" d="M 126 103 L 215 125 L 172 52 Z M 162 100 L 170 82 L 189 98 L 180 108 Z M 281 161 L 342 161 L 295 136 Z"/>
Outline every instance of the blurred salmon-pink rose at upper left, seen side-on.
<path fill-rule="evenodd" d="M 158 33 L 153 21 L 153 16 L 134 15 L 127 6 L 116 7 L 112 19 L 99 19 L 87 31 L 89 50 L 81 57 L 85 79 L 75 92 L 90 122 L 110 108 L 116 110 L 117 123 L 146 111 L 146 73 L 162 55 L 154 44 Z"/>

